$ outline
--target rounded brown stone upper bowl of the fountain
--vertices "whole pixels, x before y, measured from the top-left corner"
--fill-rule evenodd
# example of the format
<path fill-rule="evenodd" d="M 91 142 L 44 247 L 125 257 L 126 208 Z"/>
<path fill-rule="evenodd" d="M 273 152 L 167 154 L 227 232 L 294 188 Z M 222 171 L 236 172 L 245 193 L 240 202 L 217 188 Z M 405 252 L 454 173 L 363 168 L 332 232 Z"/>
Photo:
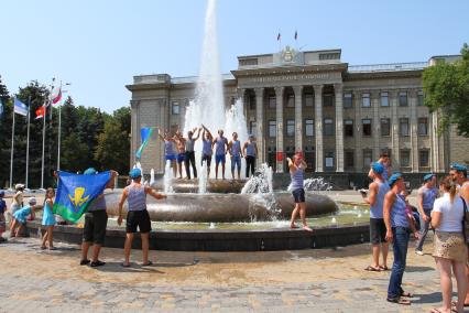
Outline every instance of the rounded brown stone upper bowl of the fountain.
<path fill-rule="evenodd" d="M 108 214 L 119 214 L 120 193 L 106 194 Z M 288 218 L 294 208 L 290 193 L 274 194 L 168 194 L 166 199 L 148 199 L 152 220 L 230 223 Z M 325 195 L 306 193 L 306 215 L 318 216 L 337 212 L 337 204 Z M 124 207 L 127 212 L 127 207 Z"/>

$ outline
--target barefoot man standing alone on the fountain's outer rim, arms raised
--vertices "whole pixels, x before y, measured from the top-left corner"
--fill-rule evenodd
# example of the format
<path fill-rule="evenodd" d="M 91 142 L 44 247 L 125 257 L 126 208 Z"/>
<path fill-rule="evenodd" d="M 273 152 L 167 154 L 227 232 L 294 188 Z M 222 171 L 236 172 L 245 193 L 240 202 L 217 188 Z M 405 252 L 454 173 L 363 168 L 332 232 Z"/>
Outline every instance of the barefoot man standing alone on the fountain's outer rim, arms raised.
<path fill-rule="evenodd" d="M 306 203 L 305 203 L 305 190 L 304 190 L 304 174 L 307 168 L 305 160 L 303 160 L 303 155 L 301 153 L 296 153 L 292 159 L 287 158 L 290 169 L 290 176 L 292 179 L 292 194 L 295 198 L 295 209 L 292 212 L 292 220 L 290 223 L 290 227 L 298 228 L 295 225 L 296 216 L 299 213 L 299 217 L 303 223 L 303 229 L 307 231 L 313 231 L 312 228 L 306 224 Z"/>

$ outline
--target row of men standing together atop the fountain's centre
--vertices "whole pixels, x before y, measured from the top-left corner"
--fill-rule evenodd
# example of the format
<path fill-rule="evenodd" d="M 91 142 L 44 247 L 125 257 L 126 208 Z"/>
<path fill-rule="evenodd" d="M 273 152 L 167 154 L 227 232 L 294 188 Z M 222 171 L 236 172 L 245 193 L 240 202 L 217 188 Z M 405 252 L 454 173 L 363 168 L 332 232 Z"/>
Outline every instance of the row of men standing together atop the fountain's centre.
<path fill-rule="evenodd" d="M 258 158 L 258 144 L 253 134 L 249 134 L 247 141 L 241 145 L 238 139 L 238 133 L 233 132 L 231 140 L 223 136 L 223 130 L 218 130 L 218 136 L 214 138 L 210 130 L 204 125 L 199 128 L 194 128 L 184 137 L 181 130 L 177 130 L 174 136 L 171 136 L 168 130 L 157 128 L 159 137 L 164 142 L 165 161 L 171 162 L 174 177 L 183 179 L 183 166 L 185 168 L 186 179 L 190 180 L 190 169 L 194 179 L 197 179 L 197 166 L 195 160 L 195 142 L 200 138 L 203 140 L 200 165 L 204 163 L 207 168 L 207 176 L 210 175 L 211 159 L 215 152 L 215 179 L 218 179 L 218 169 L 221 164 L 221 177 L 225 180 L 226 155 L 229 154 L 231 160 L 231 177 L 241 179 L 241 160 L 246 159 L 246 177 L 254 174 L 255 159 Z"/>

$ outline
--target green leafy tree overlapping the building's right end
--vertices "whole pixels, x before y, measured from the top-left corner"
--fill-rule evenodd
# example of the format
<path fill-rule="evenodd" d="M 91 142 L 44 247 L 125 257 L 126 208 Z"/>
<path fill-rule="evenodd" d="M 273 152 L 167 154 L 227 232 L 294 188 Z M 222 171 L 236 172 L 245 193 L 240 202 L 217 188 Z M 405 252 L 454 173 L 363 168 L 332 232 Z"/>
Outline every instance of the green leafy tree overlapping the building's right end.
<path fill-rule="evenodd" d="M 459 136 L 469 137 L 469 47 L 465 43 L 461 60 L 437 63 L 425 68 L 423 86 L 425 105 L 441 114 L 439 131 L 454 123 Z"/>

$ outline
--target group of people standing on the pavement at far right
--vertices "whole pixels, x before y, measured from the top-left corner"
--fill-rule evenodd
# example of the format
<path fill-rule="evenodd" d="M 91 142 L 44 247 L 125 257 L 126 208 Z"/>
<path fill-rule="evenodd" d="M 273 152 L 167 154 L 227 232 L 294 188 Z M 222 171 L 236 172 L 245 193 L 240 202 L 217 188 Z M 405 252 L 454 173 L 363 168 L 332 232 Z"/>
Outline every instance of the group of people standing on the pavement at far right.
<path fill-rule="evenodd" d="M 469 305 L 468 248 L 466 236 L 469 202 L 469 180 L 465 165 L 452 163 L 449 174 L 437 183 L 437 176 L 423 176 L 417 191 L 417 208 L 407 201 L 405 179 L 402 173 L 392 173 L 389 156 L 384 153 L 371 164 L 372 182 L 363 201 L 370 205 L 370 242 L 372 261 L 368 271 L 388 269 L 389 245 L 392 244 L 394 261 L 388 288 L 388 301 L 408 305 L 413 294 L 402 289 L 406 268 L 408 242 L 415 238 L 415 253 L 424 256 L 423 247 L 429 229 L 435 233 L 434 249 L 436 267 L 440 276 L 443 305 L 432 312 L 463 312 Z M 389 176 L 389 179 L 385 179 Z M 416 212 L 418 214 L 416 214 Z M 468 226 L 469 227 L 469 226 Z M 381 256 L 381 262 L 380 262 Z M 458 299 L 451 302 L 452 281 L 456 278 Z"/>

